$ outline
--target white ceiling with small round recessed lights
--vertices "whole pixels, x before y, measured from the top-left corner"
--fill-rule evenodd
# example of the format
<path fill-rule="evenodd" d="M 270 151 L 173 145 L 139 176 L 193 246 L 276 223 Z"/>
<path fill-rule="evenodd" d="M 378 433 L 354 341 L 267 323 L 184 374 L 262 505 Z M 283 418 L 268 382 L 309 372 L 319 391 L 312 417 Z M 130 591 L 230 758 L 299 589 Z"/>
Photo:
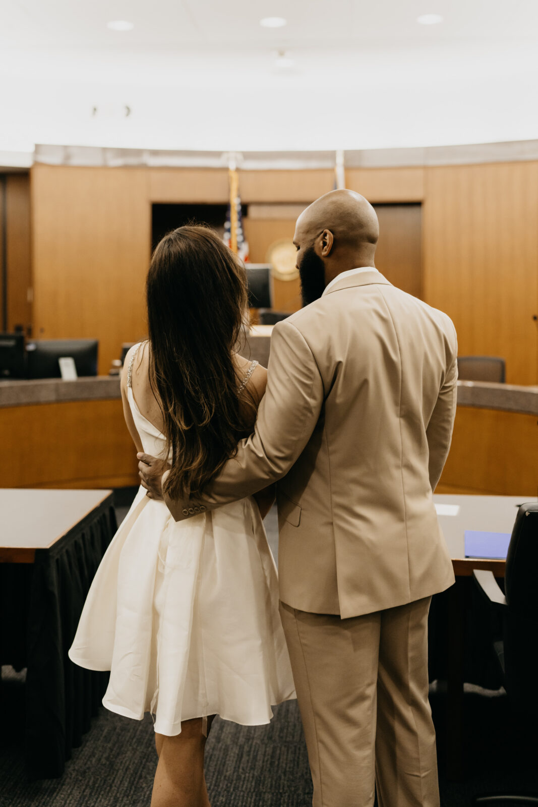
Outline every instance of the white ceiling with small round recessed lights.
<path fill-rule="evenodd" d="M 535 139 L 537 77 L 537 0 L 0 0 L 0 150 Z"/>

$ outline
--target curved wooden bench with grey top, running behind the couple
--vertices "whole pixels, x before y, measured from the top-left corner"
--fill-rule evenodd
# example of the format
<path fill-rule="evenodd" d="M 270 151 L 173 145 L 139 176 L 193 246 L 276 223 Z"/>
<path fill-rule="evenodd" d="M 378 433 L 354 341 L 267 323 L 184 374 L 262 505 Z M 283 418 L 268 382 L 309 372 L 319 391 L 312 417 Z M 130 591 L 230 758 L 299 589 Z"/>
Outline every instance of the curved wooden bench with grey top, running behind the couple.
<path fill-rule="evenodd" d="M 244 353 L 267 366 L 272 326 Z M 538 387 L 458 382 L 453 445 L 438 493 L 538 489 Z M 0 382 L 0 487 L 108 488 L 139 482 L 119 378 Z"/>

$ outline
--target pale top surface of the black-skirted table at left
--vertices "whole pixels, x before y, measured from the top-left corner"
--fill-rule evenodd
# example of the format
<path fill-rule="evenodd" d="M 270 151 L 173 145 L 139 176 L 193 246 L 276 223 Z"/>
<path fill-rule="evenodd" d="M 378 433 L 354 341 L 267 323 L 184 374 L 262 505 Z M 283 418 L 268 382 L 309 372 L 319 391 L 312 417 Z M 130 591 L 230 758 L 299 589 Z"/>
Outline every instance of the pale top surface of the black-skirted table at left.
<path fill-rule="evenodd" d="M 52 546 L 111 492 L 0 488 L 0 560 L 2 550 Z"/>

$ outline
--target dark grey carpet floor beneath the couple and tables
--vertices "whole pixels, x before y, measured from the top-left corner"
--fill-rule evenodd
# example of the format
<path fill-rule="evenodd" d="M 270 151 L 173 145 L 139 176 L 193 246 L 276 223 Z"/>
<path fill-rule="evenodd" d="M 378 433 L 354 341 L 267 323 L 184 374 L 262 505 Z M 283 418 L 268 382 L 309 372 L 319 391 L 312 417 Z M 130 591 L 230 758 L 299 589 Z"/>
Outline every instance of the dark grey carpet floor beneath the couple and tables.
<path fill-rule="evenodd" d="M 127 507 L 128 500 L 120 499 L 119 519 Z M 274 511 L 265 525 L 276 555 Z M 457 783 L 444 777 L 446 703 L 441 686 L 432 687 L 431 700 L 442 807 L 470 807 L 472 797 L 484 792 L 538 793 L 536 745 L 521 742 L 502 691 L 467 687 L 468 772 Z M 4 667 L 0 807 L 149 807 L 157 762 L 149 715 L 133 721 L 100 709 L 81 747 L 73 750 L 64 776 L 32 782 L 24 768 L 23 713 L 24 675 Z M 266 726 L 245 727 L 215 719 L 206 746 L 212 807 L 310 807 L 311 778 L 297 702 L 277 706 L 274 713 Z"/>

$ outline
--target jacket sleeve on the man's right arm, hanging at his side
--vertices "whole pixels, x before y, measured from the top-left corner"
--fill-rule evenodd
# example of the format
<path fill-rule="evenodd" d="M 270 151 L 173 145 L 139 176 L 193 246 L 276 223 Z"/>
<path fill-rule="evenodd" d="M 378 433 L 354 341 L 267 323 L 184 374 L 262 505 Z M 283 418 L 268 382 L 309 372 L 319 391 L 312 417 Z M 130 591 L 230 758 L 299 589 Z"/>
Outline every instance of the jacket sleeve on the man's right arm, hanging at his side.
<path fill-rule="evenodd" d="M 452 325 L 452 323 L 451 323 Z M 444 463 L 448 457 L 450 441 L 454 428 L 457 403 L 457 335 L 452 325 L 453 347 L 448 353 L 447 371 L 441 385 L 436 406 L 432 412 L 430 422 L 427 424 L 426 437 L 430 452 L 429 475 L 432 491 L 439 483 Z"/>

